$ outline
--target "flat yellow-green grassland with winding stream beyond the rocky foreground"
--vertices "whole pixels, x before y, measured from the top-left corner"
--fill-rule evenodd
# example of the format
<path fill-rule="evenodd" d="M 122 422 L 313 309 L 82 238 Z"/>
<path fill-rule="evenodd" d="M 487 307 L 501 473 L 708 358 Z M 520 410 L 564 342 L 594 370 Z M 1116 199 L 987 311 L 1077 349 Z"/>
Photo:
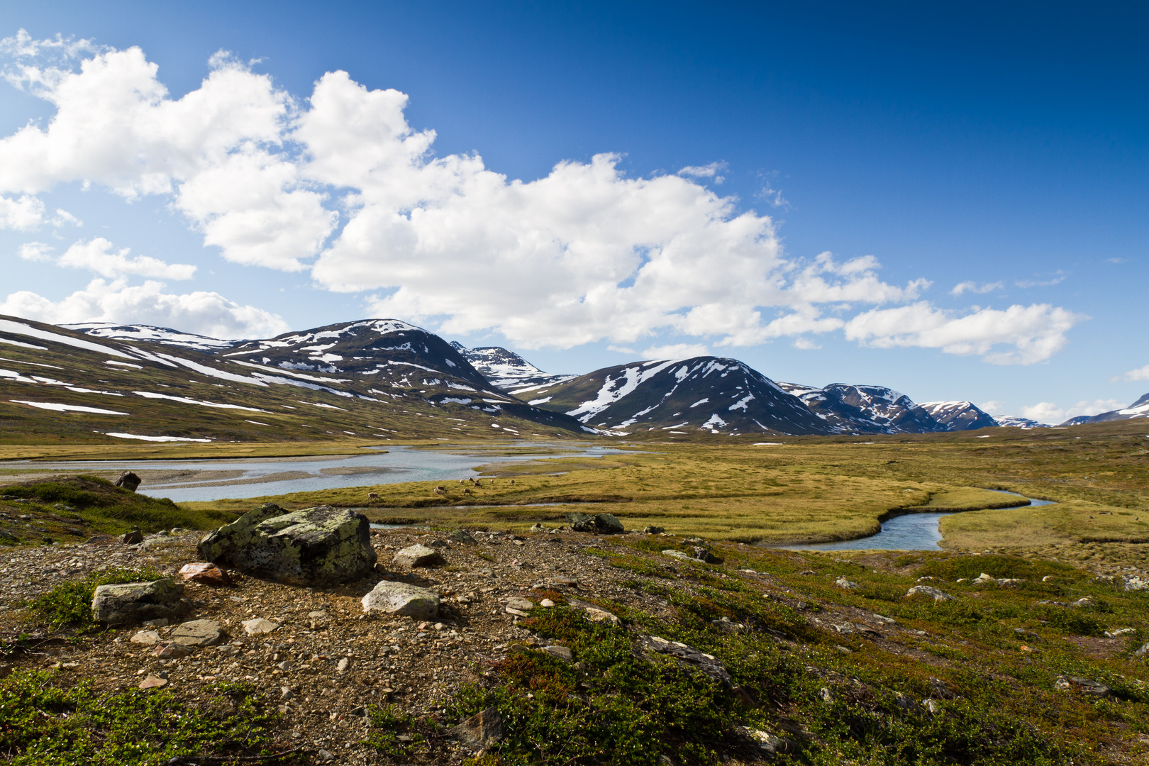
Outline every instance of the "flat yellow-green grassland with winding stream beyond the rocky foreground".
<path fill-rule="evenodd" d="M 603 457 L 486 463 L 478 486 L 423 481 L 185 505 L 326 503 L 378 521 L 510 531 L 560 525 L 578 510 L 614 513 L 627 528 L 766 544 L 861 537 L 897 513 L 967 511 L 942 520 L 943 547 L 1117 564 L 1143 560 L 1149 543 L 1146 431 L 1121 421 L 759 446 L 646 442 Z M 477 462 L 484 455 L 468 448 Z M 1003 490 L 1054 504 L 1031 506 Z"/>

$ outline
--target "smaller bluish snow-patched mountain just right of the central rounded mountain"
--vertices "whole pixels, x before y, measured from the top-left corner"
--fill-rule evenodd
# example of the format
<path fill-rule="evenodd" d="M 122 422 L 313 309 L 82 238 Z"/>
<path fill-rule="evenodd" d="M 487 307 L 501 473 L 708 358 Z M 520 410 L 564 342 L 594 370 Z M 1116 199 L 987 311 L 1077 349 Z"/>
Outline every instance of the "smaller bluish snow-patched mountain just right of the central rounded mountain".
<path fill-rule="evenodd" d="M 931 433 L 948 431 L 905 394 L 885 386 L 831 384 L 813 388 L 779 382 L 834 433 Z"/>

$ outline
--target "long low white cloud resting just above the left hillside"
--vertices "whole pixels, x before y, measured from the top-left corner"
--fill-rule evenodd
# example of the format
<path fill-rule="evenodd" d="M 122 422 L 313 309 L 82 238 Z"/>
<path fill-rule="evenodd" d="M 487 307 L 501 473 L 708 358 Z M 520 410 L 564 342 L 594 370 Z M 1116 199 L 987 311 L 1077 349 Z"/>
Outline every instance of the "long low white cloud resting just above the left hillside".
<path fill-rule="evenodd" d="M 146 281 L 134 287 L 122 280 L 94 279 L 59 302 L 28 291 L 0 303 L 0 314 L 48 324 L 115 322 L 177 327 L 213 338 L 270 338 L 290 330 L 279 316 L 240 305 L 218 293 L 172 295 L 164 285 Z"/>

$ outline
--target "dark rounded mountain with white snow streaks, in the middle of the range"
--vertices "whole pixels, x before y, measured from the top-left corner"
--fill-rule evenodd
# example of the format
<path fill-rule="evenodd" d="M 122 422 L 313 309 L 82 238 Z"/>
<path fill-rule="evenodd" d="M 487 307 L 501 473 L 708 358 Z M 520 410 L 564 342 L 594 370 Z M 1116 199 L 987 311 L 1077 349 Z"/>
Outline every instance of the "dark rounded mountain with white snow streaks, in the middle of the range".
<path fill-rule="evenodd" d="M 831 432 L 797 397 L 761 372 L 714 356 L 620 364 L 516 394 L 616 433 Z"/>

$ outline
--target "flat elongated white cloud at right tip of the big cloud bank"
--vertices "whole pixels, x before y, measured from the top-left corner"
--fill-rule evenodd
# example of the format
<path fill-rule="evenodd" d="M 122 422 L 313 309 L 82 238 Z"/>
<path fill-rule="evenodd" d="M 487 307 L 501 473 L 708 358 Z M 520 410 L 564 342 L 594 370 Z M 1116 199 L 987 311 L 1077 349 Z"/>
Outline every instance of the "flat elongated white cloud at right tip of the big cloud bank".
<path fill-rule="evenodd" d="M 1059 351 L 1069 342 L 1065 333 L 1086 318 L 1048 303 L 961 314 L 919 301 L 859 314 L 846 323 L 846 338 L 876 348 L 940 348 L 980 354 L 993 364 L 1033 364 Z M 1012 350 L 994 350 L 1000 346 Z"/>

